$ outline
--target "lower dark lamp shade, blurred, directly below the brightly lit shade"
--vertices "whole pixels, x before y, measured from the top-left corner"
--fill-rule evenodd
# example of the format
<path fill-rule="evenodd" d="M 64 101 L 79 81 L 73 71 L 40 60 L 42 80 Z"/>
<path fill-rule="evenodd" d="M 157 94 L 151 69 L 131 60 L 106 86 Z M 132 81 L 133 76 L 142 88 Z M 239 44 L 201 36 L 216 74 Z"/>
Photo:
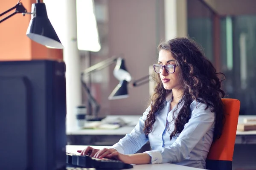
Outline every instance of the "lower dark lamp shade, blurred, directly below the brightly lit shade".
<path fill-rule="evenodd" d="M 110 96 L 108 96 L 109 100 L 114 99 L 124 99 L 128 97 L 128 88 L 127 88 L 128 82 L 125 80 L 122 80 L 119 82 L 119 84 L 116 86 L 116 88 L 112 91 Z"/>

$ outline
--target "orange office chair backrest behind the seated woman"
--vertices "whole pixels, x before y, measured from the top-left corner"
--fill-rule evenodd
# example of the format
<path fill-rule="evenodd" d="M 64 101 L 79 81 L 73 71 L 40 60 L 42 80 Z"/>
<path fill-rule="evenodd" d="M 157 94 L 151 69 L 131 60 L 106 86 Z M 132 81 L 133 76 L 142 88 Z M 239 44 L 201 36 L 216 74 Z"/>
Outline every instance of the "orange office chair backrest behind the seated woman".
<path fill-rule="evenodd" d="M 226 113 L 225 123 L 220 139 L 213 142 L 209 150 L 206 160 L 207 170 L 232 170 L 240 101 L 222 99 L 222 102 Z"/>

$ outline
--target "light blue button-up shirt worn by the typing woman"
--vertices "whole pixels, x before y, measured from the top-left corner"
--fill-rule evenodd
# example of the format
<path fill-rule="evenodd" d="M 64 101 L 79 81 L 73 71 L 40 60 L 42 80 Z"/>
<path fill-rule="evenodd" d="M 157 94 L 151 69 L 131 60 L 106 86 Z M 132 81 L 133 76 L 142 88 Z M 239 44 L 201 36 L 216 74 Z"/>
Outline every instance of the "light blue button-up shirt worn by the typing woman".
<path fill-rule="evenodd" d="M 206 105 L 196 102 L 191 103 L 191 118 L 184 126 L 178 136 L 170 134 L 174 130 L 174 117 L 182 106 L 182 102 L 177 108 L 170 111 L 172 96 L 166 98 L 166 103 L 162 111 L 156 116 L 152 132 L 148 138 L 143 132 L 144 123 L 150 107 L 146 109 L 139 122 L 124 138 L 112 146 L 119 153 L 136 153 L 146 142 L 150 142 L 152 150 L 146 151 L 151 156 L 151 164 L 156 163 L 175 163 L 190 167 L 205 169 L 205 160 L 212 144 L 214 132 L 215 114 L 210 108 L 205 110 Z M 177 108 L 177 111 L 175 111 Z M 175 113 L 174 113 L 175 111 Z M 173 121 L 172 121 L 173 120 Z M 166 122 L 169 122 L 166 127 Z M 169 126 L 169 127 L 168 127 Z"/>

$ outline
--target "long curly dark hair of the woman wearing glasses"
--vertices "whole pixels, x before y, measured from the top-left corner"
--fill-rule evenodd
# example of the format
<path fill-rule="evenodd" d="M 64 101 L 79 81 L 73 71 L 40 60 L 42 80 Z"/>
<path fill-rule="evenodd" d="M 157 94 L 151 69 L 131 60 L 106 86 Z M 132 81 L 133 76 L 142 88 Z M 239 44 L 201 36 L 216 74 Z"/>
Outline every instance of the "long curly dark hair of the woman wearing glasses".
<path fill-rule="evenodd" d="M 184 105 L 177 114 L 175 119 L 175 129 L 170 135 L 177 136 L 184 128 L 184 125 L 191 117 L 190 105 L 193 100 L 207 105 L 212 112 L 215 112 L 215 130 L 213 134 L 213 141 L 221 136 L 224 125 L 223 103 L 221 98 L 225 96 L 221 90 L 221 81 L 225 79 L 223 73 L 217 73 L 212 63 L 204 56 L 201 48 L 195 41 L 180 37 L 160 43 L 158 51 L 166 50 L 172 53 L 175 58 L 175 64 L 180 68 L 178 77 L 180 84 L 183 86 L 183 102 Z M 220 80 L 218 75 L 224 75 Z M 154 94 L 151 96 L 151 110 L 145 120 L 145 127 L 143 129 L 147 136 L 153 128 L 155 116 L 164 108 L 166 97 L 172 93 L 172 90 L 163 88 L 160 76 L 153 73 L 153 80 L 156 82 Z M 178 102 L 180 105 L 182 101 Z M 206 108 L 206 109 L 207 109 Z"/>

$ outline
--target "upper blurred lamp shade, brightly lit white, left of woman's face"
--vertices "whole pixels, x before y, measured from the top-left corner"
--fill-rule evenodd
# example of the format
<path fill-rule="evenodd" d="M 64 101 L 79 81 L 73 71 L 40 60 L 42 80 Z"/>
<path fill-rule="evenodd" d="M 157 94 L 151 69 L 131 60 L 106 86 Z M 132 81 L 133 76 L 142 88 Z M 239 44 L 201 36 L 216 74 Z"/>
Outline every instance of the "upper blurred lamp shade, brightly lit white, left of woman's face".
<path fill-rule="evenodd" d="M 131 74 L 127 71 L 125 67 L 125 60 L 120 57 L 116 61 L 116 67 L 114 68 L 113 74 L 119 81 L 131 81 Z"/>

